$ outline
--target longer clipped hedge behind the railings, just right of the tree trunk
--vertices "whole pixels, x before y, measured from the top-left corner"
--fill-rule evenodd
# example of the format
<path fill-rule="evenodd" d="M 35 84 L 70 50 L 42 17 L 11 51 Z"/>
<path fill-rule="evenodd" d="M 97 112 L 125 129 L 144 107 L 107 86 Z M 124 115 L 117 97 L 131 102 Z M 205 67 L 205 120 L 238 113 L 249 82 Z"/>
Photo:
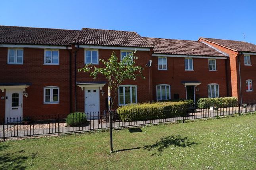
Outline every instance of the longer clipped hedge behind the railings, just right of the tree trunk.
<path fill-rule="evenodd" d="M 121 106 L 117 109 L 117 113 L 122 121 L 143 121 L 179 117 L 185 114 L 187 107 L 185 101 L 164 101 Z"/>

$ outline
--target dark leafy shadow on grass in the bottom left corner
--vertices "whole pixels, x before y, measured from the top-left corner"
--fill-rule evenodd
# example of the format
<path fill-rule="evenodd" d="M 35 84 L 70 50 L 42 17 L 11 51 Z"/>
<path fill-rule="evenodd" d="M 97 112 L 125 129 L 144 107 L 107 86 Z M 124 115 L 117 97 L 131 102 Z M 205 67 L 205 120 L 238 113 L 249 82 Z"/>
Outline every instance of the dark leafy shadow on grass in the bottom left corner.
<path fill-rule="evenodd" d="M 24 150 L 6 153 L 4 155 L 0 154 L 0 169 L 25 170 L 27 168 L 24 164 L 25 161 L 29 158 L 34 159 L 36 155 L 36 153 L 25 155 Z"/>

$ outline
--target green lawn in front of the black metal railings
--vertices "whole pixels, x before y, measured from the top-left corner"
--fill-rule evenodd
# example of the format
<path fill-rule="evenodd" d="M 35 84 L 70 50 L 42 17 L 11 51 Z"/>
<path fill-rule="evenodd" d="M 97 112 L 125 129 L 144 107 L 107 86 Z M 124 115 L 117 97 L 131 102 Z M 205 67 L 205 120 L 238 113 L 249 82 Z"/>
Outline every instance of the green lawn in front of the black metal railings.
<path fill-rule="evenodd" d="M 256 114 L 0 142 L 0 169 L 256 169 Z"/>

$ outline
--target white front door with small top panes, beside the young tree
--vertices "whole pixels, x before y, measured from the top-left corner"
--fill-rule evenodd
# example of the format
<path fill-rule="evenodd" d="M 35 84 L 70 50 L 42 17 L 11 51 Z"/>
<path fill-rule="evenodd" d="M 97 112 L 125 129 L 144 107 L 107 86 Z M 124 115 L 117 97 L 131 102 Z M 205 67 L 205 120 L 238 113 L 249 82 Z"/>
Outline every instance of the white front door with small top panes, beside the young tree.
<path fill-rule="evenodd" d="M 85 88 L 85 115 L 88 120 L 99 119 L 100 89 L 99 87 Z"/>

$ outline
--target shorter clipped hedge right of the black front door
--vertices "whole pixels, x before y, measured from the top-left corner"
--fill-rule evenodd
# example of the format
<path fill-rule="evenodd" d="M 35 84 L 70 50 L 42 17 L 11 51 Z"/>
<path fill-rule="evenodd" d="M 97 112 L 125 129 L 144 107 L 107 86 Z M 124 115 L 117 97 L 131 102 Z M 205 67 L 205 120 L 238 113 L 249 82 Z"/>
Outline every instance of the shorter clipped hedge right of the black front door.
<path fill-rule="evenodd" d="M 218 108 L 222 107 L 231 107 L 237 106 L 237 98 L 235 97 L 219 97 L 219 98 L 200 98 L 198 100 L 199 108 L 210 108 L 212 106 L 217 106 Z"/>

